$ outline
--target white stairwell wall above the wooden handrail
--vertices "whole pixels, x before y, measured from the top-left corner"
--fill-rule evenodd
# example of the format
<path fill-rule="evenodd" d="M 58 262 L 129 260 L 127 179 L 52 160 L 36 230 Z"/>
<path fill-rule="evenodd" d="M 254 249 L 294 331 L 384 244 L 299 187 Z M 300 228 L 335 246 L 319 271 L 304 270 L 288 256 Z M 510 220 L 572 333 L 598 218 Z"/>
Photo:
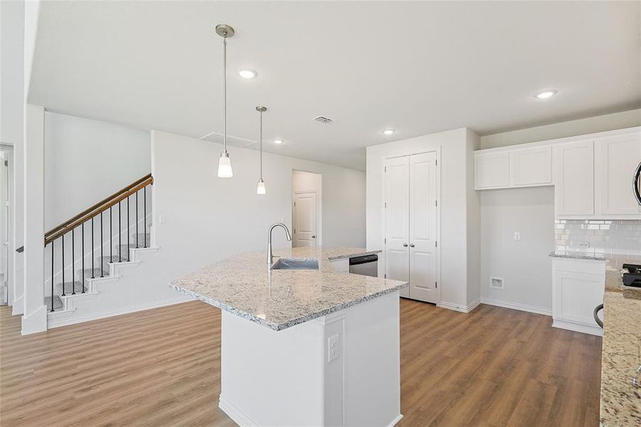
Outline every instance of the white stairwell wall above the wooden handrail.
<path fill-rule="evenodd" d="M 149 132 L 46 112 L 46 230 L 149 174 L 151 167 Z"/>

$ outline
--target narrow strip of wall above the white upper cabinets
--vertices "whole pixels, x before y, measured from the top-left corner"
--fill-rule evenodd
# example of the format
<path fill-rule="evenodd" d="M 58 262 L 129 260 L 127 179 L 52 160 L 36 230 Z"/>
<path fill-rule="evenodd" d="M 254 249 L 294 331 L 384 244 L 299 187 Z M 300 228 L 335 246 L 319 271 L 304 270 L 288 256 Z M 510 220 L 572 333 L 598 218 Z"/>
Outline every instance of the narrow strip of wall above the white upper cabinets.
<path fill-rule="evenodd" d="M 481 148 L 506 147 L 635 126 L 641 126 L 641 109 L 485 135 L 481 137 Z"/>

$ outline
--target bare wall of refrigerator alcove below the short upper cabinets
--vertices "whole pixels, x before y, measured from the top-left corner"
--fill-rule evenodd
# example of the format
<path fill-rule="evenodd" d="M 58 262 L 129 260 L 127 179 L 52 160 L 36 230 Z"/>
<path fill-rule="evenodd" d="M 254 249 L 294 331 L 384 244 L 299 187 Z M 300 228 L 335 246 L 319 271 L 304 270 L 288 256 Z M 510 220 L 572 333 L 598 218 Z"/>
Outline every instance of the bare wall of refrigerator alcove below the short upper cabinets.
<path fill-rule="evenodd" d="M 481 297 L 494 304 L 552 310 L 554 188 L 479 191 L 481 199 Z M 514 233 L 521 240 L 514 240 Z M 490 278 L 504 278 L 504 289 Z"/>

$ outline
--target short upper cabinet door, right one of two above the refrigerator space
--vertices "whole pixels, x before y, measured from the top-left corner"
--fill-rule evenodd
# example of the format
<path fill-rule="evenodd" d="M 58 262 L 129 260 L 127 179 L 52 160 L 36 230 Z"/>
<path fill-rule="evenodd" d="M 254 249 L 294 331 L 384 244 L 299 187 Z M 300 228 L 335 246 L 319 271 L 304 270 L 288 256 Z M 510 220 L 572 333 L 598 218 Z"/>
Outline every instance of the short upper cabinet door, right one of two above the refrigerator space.
<path fill-rule="evenodd" d="M 509 156 L 512 186 L 552 184 L 551 146 L 517 148 Z"/>

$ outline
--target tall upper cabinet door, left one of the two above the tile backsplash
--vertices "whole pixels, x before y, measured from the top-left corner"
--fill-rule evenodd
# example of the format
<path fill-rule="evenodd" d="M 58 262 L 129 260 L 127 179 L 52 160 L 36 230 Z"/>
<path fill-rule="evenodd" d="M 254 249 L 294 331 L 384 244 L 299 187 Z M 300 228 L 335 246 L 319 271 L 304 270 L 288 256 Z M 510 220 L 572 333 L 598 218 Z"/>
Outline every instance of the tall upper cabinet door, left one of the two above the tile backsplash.
<path fill-rule="evenodd" d="M 586 139 L 568 142 L 555 148 L 556 215 L 593 216 L 594 141 Z"/>

